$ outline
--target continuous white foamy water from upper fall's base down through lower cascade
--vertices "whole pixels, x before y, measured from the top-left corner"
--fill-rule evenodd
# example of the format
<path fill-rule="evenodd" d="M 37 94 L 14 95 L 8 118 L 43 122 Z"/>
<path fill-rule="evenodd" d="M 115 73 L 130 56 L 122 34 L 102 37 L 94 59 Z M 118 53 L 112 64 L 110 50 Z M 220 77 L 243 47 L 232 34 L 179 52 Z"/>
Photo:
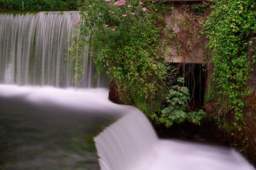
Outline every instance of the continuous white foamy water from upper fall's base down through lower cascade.
<path fill-rule="evenodd" d="M 106 89 L 57 89 L 0 85 L 0 97 L 93 110 L 120 117 L 95 138 L 102 170 L 253 170 L 234 148 L 158 139 L 145 115 L 111 103 Z"/>

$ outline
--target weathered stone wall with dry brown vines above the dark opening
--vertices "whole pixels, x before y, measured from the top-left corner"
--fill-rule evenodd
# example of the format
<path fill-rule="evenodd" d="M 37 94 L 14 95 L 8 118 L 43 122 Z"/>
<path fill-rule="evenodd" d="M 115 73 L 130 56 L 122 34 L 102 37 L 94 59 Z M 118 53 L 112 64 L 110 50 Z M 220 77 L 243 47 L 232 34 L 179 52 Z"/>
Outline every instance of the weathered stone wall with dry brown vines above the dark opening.
<path fill-rule="evenodd" d="M 202 34 L 202 26 L 209 12 L 195 13 L 187 4 L 173 4 L 170 8 L 172 10 L 164 15 L 166 61 L 203 64 L 207 39 Z"/>

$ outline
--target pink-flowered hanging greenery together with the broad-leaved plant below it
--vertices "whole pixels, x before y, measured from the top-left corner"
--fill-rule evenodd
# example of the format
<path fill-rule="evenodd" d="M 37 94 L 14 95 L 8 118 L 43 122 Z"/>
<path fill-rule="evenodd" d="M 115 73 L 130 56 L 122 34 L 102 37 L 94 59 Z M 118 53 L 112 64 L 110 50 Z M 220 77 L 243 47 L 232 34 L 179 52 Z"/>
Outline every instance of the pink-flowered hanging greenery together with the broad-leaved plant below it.
<path fill-rule="evenodd" d="M 79 83 L 84 74 L 82 57 L 77 52 L 88 43 L 97 71 L 107 70 L 122 103 L 138 107 L 166 126 L 184 120 L 200 124 L 204 111 L 184 112 L 188 88 L 177 77 L 166 79 L 168 74 L 177 72 L 165 60 L 168 41 L 161 39 L 166 28 L 161 25 L 166 10 L 172 8 L 154 1 L 84 2 L 81 18 L 76 22 L 80 33 L 74 34 L 77 41 L 71 49 L 77 73 L 74 80 Z"/>

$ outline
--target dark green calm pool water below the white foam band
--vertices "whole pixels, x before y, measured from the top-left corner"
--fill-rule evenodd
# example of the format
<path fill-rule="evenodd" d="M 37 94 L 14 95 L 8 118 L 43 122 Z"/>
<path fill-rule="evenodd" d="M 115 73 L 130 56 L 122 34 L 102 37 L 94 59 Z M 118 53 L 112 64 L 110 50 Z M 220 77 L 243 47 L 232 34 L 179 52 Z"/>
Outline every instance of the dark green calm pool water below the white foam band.
<path fill-rule="evenodd" d="M 0 97 L 0 169 L 99 169 L 93 137 L 116 118 Z"/>

